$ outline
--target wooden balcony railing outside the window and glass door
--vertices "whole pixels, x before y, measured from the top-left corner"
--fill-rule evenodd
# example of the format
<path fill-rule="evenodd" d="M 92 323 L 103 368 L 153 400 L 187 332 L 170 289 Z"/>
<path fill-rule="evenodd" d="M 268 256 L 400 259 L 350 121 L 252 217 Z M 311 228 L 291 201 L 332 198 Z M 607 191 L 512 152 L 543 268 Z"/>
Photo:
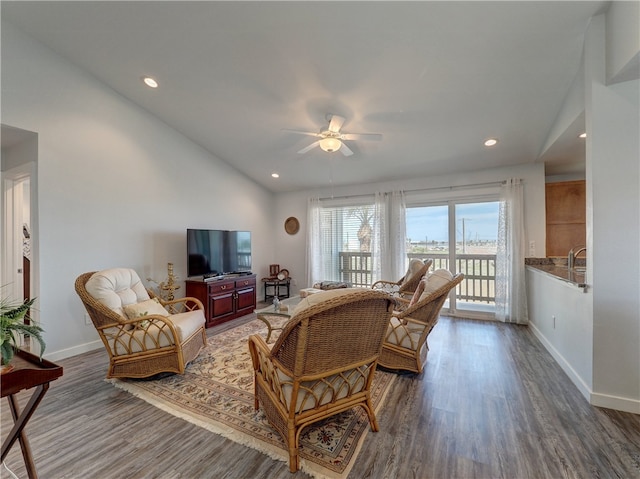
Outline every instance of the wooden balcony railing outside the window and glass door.
<path fill-rule="evenodd" d="M 371 253 L 340 252 L 340 280 L 354 286 L 371 286 Z M 446 253 L 409 253 L 409 259 L 433 259 L 432 270 L 448 269 L 449 255 Z M 494 304 L 496 297 L 496 255 L 457 254 L 456 273 L 464 273 L 464 281 L 456 288 L 456 300 L 468 303 Z M 397 280 L 399 278 L 385 278 Z"/>

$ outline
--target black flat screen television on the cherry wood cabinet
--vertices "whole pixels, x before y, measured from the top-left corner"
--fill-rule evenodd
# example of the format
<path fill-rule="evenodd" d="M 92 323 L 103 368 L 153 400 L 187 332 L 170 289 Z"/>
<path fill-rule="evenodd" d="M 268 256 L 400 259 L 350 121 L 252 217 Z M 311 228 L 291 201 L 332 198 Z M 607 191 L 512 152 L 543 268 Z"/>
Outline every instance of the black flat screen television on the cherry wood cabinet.
<path fill-rule="evenodd" d="M 251 271 L 251 231 L 187 230 L 187 276 Z"/>

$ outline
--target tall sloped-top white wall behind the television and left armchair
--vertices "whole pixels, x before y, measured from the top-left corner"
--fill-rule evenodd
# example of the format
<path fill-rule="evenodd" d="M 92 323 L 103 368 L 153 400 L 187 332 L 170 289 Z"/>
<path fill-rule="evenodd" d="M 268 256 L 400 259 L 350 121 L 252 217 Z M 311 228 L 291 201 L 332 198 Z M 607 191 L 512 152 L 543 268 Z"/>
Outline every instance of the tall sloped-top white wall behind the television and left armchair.
<path fill-rule="evenodd" d="M 184 278 L 188 227 L 251 230 L 254 271 L 267 274 L 271 193 L 6 23 L 2 122 L 39 139 L 45 356 L 101 347 L 74 291 L 79 274 L 127 266 L 164 280 L 173 262 Z"/>

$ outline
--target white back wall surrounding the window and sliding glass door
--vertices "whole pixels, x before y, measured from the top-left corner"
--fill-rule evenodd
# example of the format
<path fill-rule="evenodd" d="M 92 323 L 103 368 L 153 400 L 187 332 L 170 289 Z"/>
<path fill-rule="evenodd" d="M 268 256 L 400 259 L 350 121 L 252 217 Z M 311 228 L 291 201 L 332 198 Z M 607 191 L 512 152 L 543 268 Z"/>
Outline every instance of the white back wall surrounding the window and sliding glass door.
<path fill-rule="evenodd" d="M 335 173 L 334 173 L 335 174 Z M 339 172 L 337 173 L 339 174 Z M 456 175 L 431 176 L 409 181 L 389 181 L 367 185 L 353 185 L 314 191 L 283 193 L 276 197 L 277 225 L 274 236 L 276 263 L 286 267 L 296 281 L 294 289 L 305 288 L 306 283 L 306 230 L 307 200 L 310 197 L 330 198 L 332 196 L 350 196 L 373 194 L 376 191 L 421 190 L 449 186 L 473 185 L 503 181 L 507 178 L 521 178 L 524 181 L 526 244 L 533 241 L 536 251 L 533 256 L 545 256 L 545 193 L 544 165 L 527 164 L 511 168 L 494 168 Z M 472 193 L 464 190 L 464 193 Z M 460 194 L 457 191 L 456 194 Z M 289 216 L 300 220 L 300 232 L 290 236 L 284 231 L 284 221 Z"/>

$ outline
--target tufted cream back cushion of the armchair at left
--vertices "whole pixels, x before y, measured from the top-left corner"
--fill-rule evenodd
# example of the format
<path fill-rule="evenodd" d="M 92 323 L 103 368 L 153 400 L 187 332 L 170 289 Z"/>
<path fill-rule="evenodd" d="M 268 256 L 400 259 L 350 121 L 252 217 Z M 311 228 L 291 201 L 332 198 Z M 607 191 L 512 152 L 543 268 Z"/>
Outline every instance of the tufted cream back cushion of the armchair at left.
<path fill-rule="evenodd" d="M 93 298 L 121 316 L 125 316 L 124 306 L 149 299 L 138 273 L 129 268 L 98 271 L 89 278 L 85 288 Z"/>

